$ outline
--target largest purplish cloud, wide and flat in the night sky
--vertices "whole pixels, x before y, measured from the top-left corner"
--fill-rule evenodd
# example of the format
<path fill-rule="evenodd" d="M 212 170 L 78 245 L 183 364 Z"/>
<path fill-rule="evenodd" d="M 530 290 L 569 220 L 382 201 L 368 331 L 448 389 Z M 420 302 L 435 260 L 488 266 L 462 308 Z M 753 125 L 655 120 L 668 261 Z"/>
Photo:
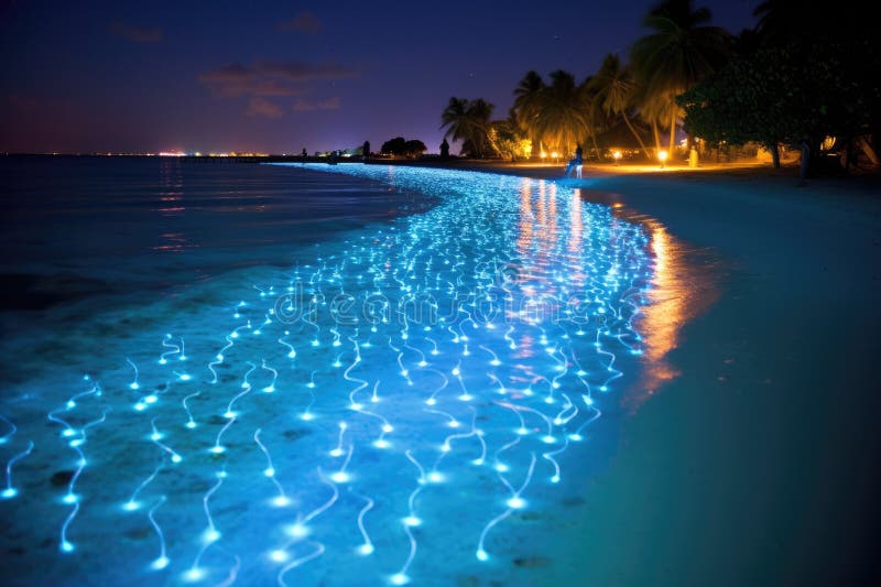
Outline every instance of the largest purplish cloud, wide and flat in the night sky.
<path fill-rule="evenodd" d="M 300 96 L 311 81 L 356 77 L 357 69 L 335 63 L 230 63 L 198 76 L 218 96 Z"/>

